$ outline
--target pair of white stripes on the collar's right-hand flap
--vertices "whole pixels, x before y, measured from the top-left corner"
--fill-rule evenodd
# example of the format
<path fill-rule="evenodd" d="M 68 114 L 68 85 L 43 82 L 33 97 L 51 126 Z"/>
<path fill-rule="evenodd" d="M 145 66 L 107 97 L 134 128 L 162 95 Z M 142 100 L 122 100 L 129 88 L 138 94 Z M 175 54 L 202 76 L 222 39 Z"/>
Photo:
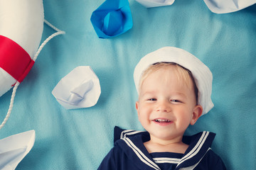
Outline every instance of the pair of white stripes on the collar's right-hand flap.
<path fill-rule="evenodd" d="M 206 132 L 206 131 L 203 132 L 203 134 L 201 135 L 200 139 L 196 143 L 196 146 L 193 147 L 193 149 L 190 152 L 188 152 L 188 154 L 186 154 L 181 159 L 181 161 L 178 163 L 178 165 L 180 165 L 181 163 L 185 162 L 188 159 L 191 159 L 191 157 L 194 157 L 200 151 L 200 149 L 203 146 L 203 143 L 206 141 L 206 138 L 208 137 L 209 133 L 210 132 Z"/>

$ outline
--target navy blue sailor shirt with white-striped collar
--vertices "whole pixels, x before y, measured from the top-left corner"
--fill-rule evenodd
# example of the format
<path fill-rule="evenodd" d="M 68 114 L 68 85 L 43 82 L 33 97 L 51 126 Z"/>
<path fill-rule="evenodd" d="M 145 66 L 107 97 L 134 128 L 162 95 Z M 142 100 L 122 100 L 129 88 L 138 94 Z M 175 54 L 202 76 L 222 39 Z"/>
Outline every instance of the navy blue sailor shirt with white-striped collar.
<path fill-rule="evenodd" d="M 114 128 L 114 147 L 103 159 L 98 170 L 172 170 L 172 169 L 226 169 L 222 159 L 210 149 L 213 132 L 199 132 L 183 136 L 189 145 L 184 154 L 171 152 L 147 152 L 144 142 L 150 140 L 149 132 Z"/>

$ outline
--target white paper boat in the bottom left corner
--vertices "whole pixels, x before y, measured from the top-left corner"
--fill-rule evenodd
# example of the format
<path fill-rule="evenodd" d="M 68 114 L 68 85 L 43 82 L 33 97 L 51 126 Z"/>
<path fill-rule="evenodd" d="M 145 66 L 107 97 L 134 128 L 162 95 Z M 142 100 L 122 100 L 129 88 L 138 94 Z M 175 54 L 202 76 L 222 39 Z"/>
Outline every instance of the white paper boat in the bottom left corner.
<path fill-rule="evenodd" d="M 0 169 L 16 169 L 18 163 L 30 152 L 35 138 L 35 130 L 29 130 L 0 140 Z"/>

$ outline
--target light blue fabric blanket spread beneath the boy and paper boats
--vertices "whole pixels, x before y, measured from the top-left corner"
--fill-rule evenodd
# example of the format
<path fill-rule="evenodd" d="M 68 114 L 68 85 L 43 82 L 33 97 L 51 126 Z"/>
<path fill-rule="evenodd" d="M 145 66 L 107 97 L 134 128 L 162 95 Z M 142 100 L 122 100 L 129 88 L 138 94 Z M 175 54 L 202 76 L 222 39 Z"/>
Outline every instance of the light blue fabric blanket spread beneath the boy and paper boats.
<path fill-rule="evenodd" d="M 188 128 L 217 135 L 212 149 L 228 169 L 256 169 L 256 6 L 235 13 L 212 13 L 203 0 L 178 0 L 145 8 L 129 0 L 133 28 L 100 39 L 90 22 L 104 1 L 44 0 L 45 18 L 65 35 L 50 40 L 18 86 L 9 121 L 0 139 L 36 130 L 36 142 L 17 169 L 97 169 L 113 146 L 114 125 L 143 130 L 137 119 L 134 67 L 164 46 L 180 47 L 213 72 L 214 108 Z M 54 31 L 44 26 L 43 38 Z M 102 94 L 92 108 L 65 110 L 51 91 L 75 67 L 88 65 Z M 0 119 L 11 91 L 0 98 Z"/>

